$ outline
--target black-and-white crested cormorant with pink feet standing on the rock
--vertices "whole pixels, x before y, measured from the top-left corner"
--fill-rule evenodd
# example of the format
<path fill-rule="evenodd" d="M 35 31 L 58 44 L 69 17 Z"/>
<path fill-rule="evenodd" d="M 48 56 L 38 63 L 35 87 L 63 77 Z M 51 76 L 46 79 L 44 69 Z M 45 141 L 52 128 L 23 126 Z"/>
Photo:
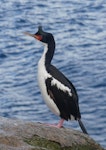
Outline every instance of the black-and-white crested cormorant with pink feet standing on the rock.
<path fill-rule="evenodd" d="M 53 126 L 61 128 L 65 120 L 76 120 L 83 133 L 88 134 L 81 120 L 79 99 L 75 86 L 51 63 L 56 46 L 54 36 L 45 32 L 42 26 L 38 27 L 35 34 L 24 33 L 34 37 L 44 45 L 43 54 L 38 62 L 38 85 L 49 109 L 61 118 L 59 123 Z"/>

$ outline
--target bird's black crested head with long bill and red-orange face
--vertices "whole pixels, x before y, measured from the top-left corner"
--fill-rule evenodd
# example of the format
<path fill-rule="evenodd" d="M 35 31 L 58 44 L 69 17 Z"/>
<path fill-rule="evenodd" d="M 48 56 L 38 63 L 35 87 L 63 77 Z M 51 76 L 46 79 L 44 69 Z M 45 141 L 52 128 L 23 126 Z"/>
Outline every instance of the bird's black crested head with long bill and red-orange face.
<path fill-rule="evenodd" d="M 49 44 L 51 41 L 54 41 L 53 35 L 51 33 L 44 32 L 41 26 L 38 27 L 38 31 L 35 34 L 30 34 L 28 32 L 25 32 L 25 34 L 32 36 L 35 39 L 46 44 Z"/>

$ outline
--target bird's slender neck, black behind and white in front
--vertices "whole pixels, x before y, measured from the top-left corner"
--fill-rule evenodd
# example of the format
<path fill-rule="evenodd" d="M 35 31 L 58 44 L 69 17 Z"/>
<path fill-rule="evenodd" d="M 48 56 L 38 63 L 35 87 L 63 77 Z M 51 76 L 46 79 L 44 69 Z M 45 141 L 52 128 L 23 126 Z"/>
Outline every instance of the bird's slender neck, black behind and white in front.
<path fill-rule="evenodd" d="M 43 55 L 40 59 L 44 65 L 49 65 L 51 64 L 51 60 L 53 58 L 55 51 L 55 43 L 50 43 L 50 44 L 45 44 L 44 45 L 44 52 Z"/>

